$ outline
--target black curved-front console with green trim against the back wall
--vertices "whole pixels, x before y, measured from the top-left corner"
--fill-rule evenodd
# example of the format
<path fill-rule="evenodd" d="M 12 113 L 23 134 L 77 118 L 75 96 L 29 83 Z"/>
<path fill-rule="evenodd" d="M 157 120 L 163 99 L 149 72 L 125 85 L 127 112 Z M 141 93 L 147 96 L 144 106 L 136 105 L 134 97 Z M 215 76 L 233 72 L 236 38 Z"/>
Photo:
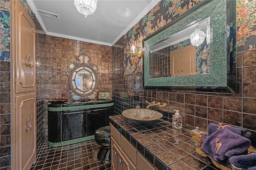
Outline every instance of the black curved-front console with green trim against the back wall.
<path fill-rule="evenodd" d="M 59 147 L 94 139 L 95 130 L 109 125 L 114 101 L 48 104 L 48 145 Z"/>

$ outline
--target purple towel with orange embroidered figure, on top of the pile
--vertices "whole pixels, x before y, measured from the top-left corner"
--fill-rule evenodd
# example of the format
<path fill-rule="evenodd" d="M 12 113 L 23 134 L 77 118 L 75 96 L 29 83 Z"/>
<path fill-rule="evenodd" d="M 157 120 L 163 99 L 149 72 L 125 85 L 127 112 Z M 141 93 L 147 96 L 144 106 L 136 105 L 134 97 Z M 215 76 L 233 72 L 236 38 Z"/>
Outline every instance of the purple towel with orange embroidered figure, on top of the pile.
<path fill-rule="evenodd" d="M 246 137 L 224 128 L 206 136 L 201 149 L 222 163 L 230 156 L 246 153 L 250 145 L 251 141 Z"/>

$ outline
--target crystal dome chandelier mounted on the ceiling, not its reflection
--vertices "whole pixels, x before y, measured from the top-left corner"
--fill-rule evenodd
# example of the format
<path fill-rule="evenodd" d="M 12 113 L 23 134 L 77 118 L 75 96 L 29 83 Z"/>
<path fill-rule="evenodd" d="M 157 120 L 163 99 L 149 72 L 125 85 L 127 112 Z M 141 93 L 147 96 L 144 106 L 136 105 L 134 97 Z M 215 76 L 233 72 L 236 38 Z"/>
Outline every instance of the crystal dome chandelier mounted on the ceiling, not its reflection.
<path fill-rule="evenodd" d="M 98 0 L 74 0 L 74 4 L 78 12 L 85 17 L 95 12 Z"/>

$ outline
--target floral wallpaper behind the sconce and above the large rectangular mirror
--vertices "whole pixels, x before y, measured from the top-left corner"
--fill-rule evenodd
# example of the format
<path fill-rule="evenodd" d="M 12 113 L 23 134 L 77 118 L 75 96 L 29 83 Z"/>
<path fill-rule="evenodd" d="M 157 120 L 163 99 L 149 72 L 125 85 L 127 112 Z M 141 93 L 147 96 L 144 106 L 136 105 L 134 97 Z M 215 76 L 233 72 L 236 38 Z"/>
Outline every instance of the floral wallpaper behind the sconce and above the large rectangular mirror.
<path fill-rule="evenodd" d="M 132 45 L 142 50 L 142 40 L 170 23 L 202 0 L 162 0 L 124 35 L 124 74 L 142 72 L 142 60 L 132 56 Z"/>

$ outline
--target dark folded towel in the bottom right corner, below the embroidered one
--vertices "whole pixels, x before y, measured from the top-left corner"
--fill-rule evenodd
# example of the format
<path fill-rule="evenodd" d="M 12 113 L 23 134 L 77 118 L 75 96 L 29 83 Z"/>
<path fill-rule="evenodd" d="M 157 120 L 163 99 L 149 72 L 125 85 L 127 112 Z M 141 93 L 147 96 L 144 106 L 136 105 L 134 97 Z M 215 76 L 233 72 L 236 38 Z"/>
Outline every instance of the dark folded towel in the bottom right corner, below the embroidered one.
<path fill-rule="evenodd" d="M 236 168 L 242 168 L 243 170 L 256 170 L 256 152 L 231 156 L 228 160 Z"/>

